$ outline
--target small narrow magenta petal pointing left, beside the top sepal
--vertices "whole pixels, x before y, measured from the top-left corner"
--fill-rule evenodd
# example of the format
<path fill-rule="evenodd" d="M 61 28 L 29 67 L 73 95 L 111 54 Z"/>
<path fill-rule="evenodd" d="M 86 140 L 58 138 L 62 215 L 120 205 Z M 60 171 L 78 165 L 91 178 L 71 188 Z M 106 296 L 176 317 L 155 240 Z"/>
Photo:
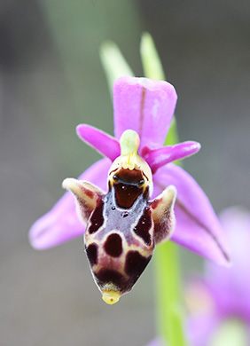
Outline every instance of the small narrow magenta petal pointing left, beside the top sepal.
<path fill-rule="evenodd" d="M 76 127 L 76 133 L 79 138 L 111 161 L 114 161 L 121 154 L 119 142 L 101 130 L 90 125 L 80 124 Z"/>

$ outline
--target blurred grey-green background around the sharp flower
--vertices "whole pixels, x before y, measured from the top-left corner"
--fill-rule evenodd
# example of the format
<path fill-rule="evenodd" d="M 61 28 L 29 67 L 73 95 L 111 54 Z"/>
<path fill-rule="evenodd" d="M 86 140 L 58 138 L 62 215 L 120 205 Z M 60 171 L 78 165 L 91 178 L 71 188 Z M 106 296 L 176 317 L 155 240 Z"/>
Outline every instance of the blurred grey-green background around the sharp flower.
<path fill-rule="evenodd" d="M 202 144 L 185 169 L 217 212 L 250 207 L 249 2 L 2 0 L 1 345 L 140 346 L 155 335 L 153 263 L 110 307 L 91 278 L 82 239 L 41 252 L 27 241 L 31 224 L 62 195 L 62 180 L 99 158 L 75 125 L 113 134 L 100 43 L 117 43 L 140 76 L 143 31 L 176 87 L 180 139 Z M 185 276 L 199 269 L 199 256 L 181 253 Z"/>

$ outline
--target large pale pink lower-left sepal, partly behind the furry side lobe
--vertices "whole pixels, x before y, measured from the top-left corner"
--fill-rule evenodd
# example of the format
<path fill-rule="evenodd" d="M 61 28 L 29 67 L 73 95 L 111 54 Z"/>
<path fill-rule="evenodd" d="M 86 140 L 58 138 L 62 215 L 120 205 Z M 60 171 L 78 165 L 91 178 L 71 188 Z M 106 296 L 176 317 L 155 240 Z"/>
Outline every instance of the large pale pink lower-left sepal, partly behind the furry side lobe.
<path fill-rule="evenodd" d="M 103 159 L 93 164 L 79 178 L 107 189 L 107 172 L 111 162 Z M 76 215 L 74 196 L 64 196 L 47 214 L 38 219 L 30 229 L 29 241 L 33 248 L 45 249 L 55 247 L 67 240 L 83 234 L 85 226 Z"/>

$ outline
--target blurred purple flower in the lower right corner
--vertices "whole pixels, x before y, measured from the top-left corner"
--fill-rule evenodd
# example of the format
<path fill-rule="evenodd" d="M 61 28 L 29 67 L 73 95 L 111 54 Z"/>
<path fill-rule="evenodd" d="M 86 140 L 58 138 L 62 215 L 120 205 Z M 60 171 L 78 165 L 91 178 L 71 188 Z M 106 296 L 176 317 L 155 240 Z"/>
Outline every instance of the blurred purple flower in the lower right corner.
<path fill-rule="evenodd" d="M 250 213 L 228 208 L 220 216 L 231 246 L 228 268 L 206 263 L 205 279 L 187 289 L 194 346 L 250 345 Z"/>

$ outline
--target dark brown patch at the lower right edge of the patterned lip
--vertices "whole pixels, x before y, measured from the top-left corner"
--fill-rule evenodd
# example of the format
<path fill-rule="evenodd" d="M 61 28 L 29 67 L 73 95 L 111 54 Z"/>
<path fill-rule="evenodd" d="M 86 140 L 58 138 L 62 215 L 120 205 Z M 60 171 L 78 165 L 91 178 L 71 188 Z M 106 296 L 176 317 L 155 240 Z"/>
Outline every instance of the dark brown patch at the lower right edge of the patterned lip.
<path fill-rule="evenodd" d="M 145 267 L 151 260 L 152 256 L 141 256 L 138 251 L 129 251 L 126 256 L 125 271 L 129 274 L 131 279 L 136 282 L 141 273 L 145 270 Z"/>

